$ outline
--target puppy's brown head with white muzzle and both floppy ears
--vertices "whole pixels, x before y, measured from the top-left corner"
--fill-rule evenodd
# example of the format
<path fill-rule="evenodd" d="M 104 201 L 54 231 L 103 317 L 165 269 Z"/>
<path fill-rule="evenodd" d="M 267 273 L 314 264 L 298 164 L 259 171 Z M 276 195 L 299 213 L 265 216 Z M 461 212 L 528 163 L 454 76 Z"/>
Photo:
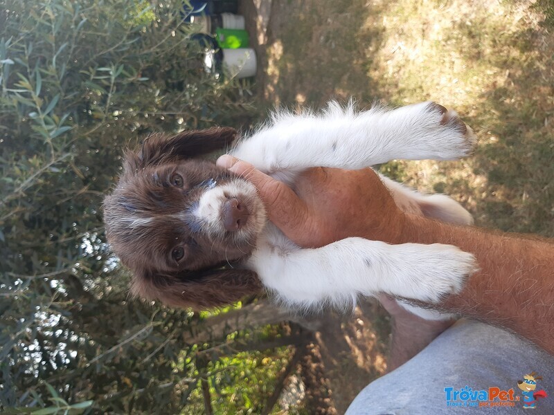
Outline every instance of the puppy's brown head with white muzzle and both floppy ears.
<path fill-rule="evenodd" d="M 104 219 L 111 248 L 133 272 L 135 295 L 208 308 L 260 291 L 255 273 L 233 267 L 265 225 L 256 188 L 195 158 L 235 136 L 230 128 L 154 134 L 125 155 Z"/>

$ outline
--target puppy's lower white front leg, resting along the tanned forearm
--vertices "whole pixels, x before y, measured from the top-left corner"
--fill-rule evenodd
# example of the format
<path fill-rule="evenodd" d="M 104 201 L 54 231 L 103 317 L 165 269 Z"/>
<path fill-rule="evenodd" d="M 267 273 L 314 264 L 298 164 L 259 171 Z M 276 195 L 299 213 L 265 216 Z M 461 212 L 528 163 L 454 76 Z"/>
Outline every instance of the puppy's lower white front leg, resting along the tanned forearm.
<path fill-rule="evenodd" d="M 357 295 L 380 292 L 440 302 L 463 289 L 476 261 L 467 252 L 438 243 L 388 245 L 347 238 L 315 249 L 265 246 L 254 252 L 249 267 L 284 302 L 310 308 L 326 302 L 348 306 Z"/>

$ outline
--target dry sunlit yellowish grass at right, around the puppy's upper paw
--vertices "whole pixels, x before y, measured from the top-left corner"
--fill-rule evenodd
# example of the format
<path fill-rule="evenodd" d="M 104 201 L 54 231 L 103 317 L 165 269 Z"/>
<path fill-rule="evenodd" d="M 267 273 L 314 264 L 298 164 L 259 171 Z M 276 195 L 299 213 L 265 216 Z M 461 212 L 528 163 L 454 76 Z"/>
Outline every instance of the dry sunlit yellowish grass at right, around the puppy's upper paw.
<path fill-rule="evenodd" d="M 404 179 L 452 194 L 481 225 L 554 236 L 554 42 L 542 15 L 530 2 L 393 4 L 371 54 L 382 95 L 454 107 L 479 136 L 460 163 L 400 162 Z"/>

